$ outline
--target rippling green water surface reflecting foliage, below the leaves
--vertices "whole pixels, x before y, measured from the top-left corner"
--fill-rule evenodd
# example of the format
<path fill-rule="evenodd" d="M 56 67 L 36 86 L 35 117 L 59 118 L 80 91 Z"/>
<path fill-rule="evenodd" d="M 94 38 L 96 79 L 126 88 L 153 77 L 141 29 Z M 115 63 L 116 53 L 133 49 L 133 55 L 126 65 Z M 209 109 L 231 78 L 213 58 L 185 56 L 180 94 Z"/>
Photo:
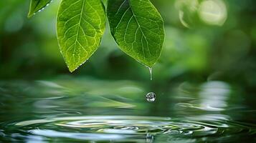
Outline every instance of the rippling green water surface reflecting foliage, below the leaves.
<path fill-rule="evenodd" d="M 0 82 L 3 142 L 255 142 L 255 109 L 226 82 Z M 161 88 L 163 87 L 163 88 Z"/>

